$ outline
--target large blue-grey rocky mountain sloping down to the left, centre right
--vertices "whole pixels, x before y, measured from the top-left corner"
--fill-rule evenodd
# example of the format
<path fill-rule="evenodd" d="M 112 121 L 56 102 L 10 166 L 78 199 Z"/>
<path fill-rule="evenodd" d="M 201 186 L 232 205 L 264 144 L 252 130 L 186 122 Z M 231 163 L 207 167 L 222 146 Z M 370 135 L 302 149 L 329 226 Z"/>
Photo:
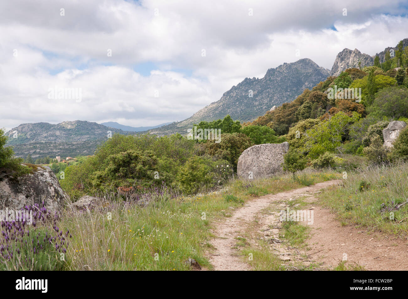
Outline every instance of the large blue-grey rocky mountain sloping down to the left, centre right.
<path fill-rule="evenodd" d="M 210 121 L 224 118 L 227 114 L 233 120 L 247 122 L 283 103 L 294 100 L 304 89 L 312 88 L 326 80 L 329 70 L 304 58 L 292 63 L 284 63 L 275 69 L 268 69 L 264 78 L 245 78 L 237 86 L 225 92 L 220 100 L 199 110 L 193 116 L 181 122 L 149 130 L 157 135 L 181 133 L 202 120 Z M 250 93 L 253 97 L 250 97 Z"/>

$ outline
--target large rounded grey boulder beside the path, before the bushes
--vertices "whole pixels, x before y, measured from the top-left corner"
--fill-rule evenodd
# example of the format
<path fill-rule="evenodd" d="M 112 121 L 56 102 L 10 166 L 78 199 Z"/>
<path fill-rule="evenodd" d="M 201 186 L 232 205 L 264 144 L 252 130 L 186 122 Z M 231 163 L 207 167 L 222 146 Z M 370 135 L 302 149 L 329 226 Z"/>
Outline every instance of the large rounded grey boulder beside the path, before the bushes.
<path fill-rule="evenodd" d="M 238 159 L 238 177 L 259 179 L 273 176 L 282 171 L 283 155 L 288 150 L 288 142 L 257 144 L 247 148 Z"/>

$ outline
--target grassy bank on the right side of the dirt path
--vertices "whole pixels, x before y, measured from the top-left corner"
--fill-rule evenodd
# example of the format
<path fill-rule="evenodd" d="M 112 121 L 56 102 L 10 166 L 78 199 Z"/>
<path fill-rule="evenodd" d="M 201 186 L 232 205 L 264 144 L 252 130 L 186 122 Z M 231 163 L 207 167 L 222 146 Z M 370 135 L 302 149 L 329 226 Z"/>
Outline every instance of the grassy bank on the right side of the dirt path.
<path fill-rule="evenodd" d="M 408 164 L 363 168 L 348 173 L 344 186 L 324 190 L 320 202 L 342 223 L 406 237 L 408 231 Z M 402 205 L 401 205 L 402 204 Z"/>

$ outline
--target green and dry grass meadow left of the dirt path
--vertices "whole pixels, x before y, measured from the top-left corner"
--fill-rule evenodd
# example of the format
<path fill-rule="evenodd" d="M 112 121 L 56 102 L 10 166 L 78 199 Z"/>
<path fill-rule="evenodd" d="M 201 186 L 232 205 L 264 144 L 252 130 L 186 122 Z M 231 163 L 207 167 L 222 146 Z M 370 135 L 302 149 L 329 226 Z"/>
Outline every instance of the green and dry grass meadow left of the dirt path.
<path fill-rule="evenodd" d="M 316 182 L 333 174 L 310 173 Z M 163 198 L 145 207 L 109 200 L 109 204 L 80 213 L 63 211 L 57 224 L 72 234 L 67 270 L 189 270 L 195 259 L 211 270 L 206 253 L 212 249 L 211 226 L 231 216 L 235 208 L 255 196 L 279 193 L 302 185 L 291 175 L 257 181 L 231 181 L 222 192 Z M 246 240 L 238 240 L 245 248 Z M 263 252 L 254 252 L 260 260 Z M 266 259 L 266 257 L 265 257 Z M 282 262 L 282 261 L 279 261 Z"/>

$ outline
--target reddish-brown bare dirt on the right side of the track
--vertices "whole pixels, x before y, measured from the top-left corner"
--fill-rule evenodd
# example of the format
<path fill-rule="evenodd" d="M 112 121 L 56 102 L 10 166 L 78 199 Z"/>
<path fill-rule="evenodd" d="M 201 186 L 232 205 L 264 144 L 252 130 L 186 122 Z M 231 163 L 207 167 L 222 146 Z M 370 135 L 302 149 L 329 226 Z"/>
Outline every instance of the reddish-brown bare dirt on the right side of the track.
<path fill-rule="evenodd" d="M 395 239 L 366 228 L 341 226 L 329 210 L 314 208 L 307 254 L 329 269 L 347 259 L 365 270 L 408 270 L 408 240 Z"/>

